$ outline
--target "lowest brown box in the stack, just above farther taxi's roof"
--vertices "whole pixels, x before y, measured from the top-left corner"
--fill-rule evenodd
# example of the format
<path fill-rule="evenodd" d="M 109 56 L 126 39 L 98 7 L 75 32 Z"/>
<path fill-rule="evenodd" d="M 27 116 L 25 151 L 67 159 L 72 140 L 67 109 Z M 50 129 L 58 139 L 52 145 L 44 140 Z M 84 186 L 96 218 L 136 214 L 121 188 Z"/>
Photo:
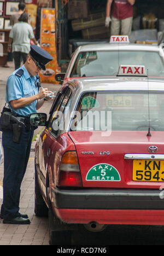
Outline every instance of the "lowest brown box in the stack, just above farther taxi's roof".
<path fill-rule="evenodd" d="M 109 28 L 104 26 L 86 28 L 82 30 L 83 39 L 102 39 L 109 38 L 110 31 Z"/>

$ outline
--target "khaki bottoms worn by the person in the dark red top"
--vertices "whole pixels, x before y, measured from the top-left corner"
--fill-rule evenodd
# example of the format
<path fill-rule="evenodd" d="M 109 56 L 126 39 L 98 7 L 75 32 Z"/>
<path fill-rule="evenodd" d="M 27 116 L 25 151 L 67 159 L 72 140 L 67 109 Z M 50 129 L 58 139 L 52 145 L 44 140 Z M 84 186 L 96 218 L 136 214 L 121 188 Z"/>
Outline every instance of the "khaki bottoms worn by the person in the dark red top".
<path fill-rule="evenodd" d="M 133 17 L 118 20 L 112 16 L 111 36 L 130 36 L 132 30 L 132 20 Z"/>

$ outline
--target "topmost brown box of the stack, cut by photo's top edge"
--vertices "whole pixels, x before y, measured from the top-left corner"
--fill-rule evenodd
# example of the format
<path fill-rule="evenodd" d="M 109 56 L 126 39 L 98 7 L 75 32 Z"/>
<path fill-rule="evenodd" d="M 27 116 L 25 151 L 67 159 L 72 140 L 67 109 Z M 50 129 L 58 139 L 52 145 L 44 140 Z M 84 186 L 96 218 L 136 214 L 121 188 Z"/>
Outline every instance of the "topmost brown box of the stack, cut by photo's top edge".
<path fill-rule="evenodd" d="M 87 0 L 69 0 L 68 20 L 87 18 L 89 4 Z"/>

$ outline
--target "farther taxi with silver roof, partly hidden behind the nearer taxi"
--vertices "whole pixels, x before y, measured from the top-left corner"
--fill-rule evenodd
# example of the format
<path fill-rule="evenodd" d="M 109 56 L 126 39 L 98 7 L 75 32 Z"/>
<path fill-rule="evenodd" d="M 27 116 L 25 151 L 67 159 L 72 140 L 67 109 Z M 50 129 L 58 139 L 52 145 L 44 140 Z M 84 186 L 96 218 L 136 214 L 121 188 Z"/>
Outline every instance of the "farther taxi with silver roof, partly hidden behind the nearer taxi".
<path fill-rule="evenodd" d="M 149 76 L 164 77 L 162 45 L 132 44 L 127 36 L 112 36 L 110 43 L 79 46 L 66 73 L 55 79 L 63 84 L 72 78 L 116 75 L 120 65 L 142 65 Z"/>

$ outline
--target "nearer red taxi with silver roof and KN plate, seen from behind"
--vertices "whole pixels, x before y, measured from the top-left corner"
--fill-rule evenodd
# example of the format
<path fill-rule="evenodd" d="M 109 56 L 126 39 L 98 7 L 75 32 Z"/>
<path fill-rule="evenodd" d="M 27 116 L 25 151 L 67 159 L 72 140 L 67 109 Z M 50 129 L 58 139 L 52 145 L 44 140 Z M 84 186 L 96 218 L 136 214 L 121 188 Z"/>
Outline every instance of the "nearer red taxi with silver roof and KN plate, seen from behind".
<path fill-rule="evenodd" d="M 50 245 L 68 245 L 80 225 L 164 224 L 163 83 L 124 65 L 116 77 L 67 82 L 48 121 L 38 113 L 46 127 L 36 143 L 35 213 L 49 211 Z"/>

